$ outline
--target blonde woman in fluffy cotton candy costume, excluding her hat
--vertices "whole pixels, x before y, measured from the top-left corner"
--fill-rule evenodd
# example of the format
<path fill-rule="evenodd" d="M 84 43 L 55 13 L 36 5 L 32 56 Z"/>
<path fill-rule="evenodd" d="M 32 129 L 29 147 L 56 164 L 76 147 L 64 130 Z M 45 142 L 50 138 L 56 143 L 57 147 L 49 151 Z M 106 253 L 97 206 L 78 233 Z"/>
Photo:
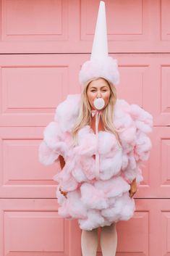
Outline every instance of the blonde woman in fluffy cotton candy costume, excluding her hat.
<path fill-rule="evenodd" d="M 95 107 L 96 99 L 104 101 L 101 110 Z M 136 122 L 142 122 L 146 132 L 151 120 L 137 105 L 116 100 L 109 81 L 92 78 L 81 97 L 68 96 L 59 104 L 54 122 L 46 127 L 40 161 L 48 165 L 60 160 L 63 170 L 54 176 L 59 215 L 77 218 L 82 256 L 96 255 L 98 227 L 103 256 L 115 255 L 116 222 L 134 214 L 132 197 L 143 180 L 138 164 L 150 150 L 150 140 Z"/>

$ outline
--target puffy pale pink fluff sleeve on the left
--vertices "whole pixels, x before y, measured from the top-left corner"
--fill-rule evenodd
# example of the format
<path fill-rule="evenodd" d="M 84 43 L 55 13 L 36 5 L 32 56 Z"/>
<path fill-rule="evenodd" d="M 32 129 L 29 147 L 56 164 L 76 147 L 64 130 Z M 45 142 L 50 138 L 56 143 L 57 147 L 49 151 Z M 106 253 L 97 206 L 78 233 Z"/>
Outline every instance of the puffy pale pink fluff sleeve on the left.
<path fill-rule="evenodd" d="M 70 94 L 61 102 L 54 113 L 54 121 L 43 131 L 39 146 L 39 161 L 51 165 L 59 154 L 67 160 L 72 145 L 72 128 L 79 112 L 80 94 Z"/>

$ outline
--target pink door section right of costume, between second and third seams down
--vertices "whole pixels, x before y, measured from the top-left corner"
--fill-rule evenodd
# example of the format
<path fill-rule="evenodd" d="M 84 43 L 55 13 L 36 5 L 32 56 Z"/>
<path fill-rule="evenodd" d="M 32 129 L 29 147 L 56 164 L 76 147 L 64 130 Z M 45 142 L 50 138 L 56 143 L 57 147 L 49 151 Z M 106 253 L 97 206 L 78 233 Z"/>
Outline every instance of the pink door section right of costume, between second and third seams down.
<path fill-rule="evenodd" d="M 170 131 L 169 127 L 154 127 L 149 135 L 152 142 L 150 157 L 144 163 L 144 181 L 135 194 L 137 198 L 169 198 L 170 194 Z"/>

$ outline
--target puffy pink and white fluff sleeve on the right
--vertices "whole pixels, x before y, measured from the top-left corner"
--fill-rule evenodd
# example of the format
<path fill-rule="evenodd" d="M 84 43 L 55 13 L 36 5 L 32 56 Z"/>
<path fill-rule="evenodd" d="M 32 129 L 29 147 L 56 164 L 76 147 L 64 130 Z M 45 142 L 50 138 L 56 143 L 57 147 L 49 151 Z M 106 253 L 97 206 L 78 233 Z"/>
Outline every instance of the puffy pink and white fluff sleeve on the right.
<path fill-rule="evenodd" d="M 124 178 L 129 183 L 136 178 L 137 185 L 143 181 L 141 167 L 143 162 L 148 160 L 151 149 L 151 141 L 148 133 L 152 131 L 153 117 L 149 112 L 143 110 L 137 104 L 129 105 L 127 114 L 131 117 L 129 128 L 121 134 L 127 135 L 123 144 L 122 170 Z M 128 137 L 129 136 L 129 137 Z M 129 139 L 129 141 L 128 141 Z"/>

